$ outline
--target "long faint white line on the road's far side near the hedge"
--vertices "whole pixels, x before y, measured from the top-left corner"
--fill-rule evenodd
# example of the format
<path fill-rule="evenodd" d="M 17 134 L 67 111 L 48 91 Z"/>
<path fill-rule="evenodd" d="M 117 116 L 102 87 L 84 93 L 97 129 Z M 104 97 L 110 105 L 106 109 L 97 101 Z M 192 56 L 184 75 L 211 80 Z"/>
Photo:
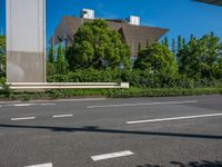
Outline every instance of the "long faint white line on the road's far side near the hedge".
<path fill-rule="evenodd" d="M 198 101 L 168 101 L 168 102 L 149 102 L 149 104 L 122 104 L 122 105 L 107 105 L 107 106 L 88 106 L 91 108 L 110 108 L 110 107 L 137 107 L 137 106 L 157 106 L 157 105 L 182 105 L 196 104 Z"/>

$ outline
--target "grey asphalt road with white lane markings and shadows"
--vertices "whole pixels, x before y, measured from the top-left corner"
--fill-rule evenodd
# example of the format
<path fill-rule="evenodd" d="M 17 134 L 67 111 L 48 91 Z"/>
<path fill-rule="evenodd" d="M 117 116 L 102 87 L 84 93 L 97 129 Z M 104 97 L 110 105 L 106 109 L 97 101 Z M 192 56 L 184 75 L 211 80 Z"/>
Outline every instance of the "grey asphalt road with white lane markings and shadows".
<path fill-rule="evenodd" d="M 222 96 L 0 102 L 0 167 L 222 167 Z"/>

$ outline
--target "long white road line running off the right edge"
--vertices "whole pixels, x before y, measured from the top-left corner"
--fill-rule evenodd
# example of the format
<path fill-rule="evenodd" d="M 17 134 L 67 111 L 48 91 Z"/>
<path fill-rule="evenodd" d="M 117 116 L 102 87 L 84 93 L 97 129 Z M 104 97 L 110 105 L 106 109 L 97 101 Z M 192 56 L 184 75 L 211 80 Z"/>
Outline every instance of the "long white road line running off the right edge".
<path fill-rule="evenodd" d="M 218 117 L 218 116 L 222 116 L 222 114 L 210 114 L 210 115 L 198 115 L 198 116 L 185 116 L 185 117 L 172 117 L 172 118 L 149 119 L 149 120 L 135 120 L 135 121 L 127 121 L 127 124 L 130 125 L 130 124 L 143 124 L 143 122 L 158 122 L 158 121 L 194 119 L 194 118 Z"/>

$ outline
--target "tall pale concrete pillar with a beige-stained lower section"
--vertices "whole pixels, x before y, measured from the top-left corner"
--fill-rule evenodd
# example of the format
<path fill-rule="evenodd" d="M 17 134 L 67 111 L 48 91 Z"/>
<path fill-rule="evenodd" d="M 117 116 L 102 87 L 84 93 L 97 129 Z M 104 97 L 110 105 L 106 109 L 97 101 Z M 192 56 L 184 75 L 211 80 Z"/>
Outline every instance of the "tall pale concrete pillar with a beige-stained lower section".
<path fill-rule="evenodd" d="M 7 81 L 46 81 L 46 0 L 7 0 Z"/>

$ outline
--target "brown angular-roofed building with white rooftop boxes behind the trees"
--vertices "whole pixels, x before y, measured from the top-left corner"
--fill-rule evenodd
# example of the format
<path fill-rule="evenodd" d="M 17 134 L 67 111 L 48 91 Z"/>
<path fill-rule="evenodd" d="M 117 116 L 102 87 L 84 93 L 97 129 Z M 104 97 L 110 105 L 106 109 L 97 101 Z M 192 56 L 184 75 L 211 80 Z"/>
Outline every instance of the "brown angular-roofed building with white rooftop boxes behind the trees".
<path fill-rule="evenodd" d="M 50 43 L 53 46 L 57 46 L 58 43 L 71 46 L 73 43 L 73 36 L 79 27 L 93 19 L 94 11 L 89 9 L 83 9 L 80 18 L 71 16 L 63 17 L 51 37 Z M 168 29 L 141 26 L 140 18 L 134 16 L 130 16 L 127 20 L 104 20 L 110 28 L 120 32 L 122 40 L 130 47 L 132 57 L 137 57 L 139 45 L 141 48 L 145 48 L 148 41 L 149 43 L 158 42 L 159 39 L 168 32 Z"/>

